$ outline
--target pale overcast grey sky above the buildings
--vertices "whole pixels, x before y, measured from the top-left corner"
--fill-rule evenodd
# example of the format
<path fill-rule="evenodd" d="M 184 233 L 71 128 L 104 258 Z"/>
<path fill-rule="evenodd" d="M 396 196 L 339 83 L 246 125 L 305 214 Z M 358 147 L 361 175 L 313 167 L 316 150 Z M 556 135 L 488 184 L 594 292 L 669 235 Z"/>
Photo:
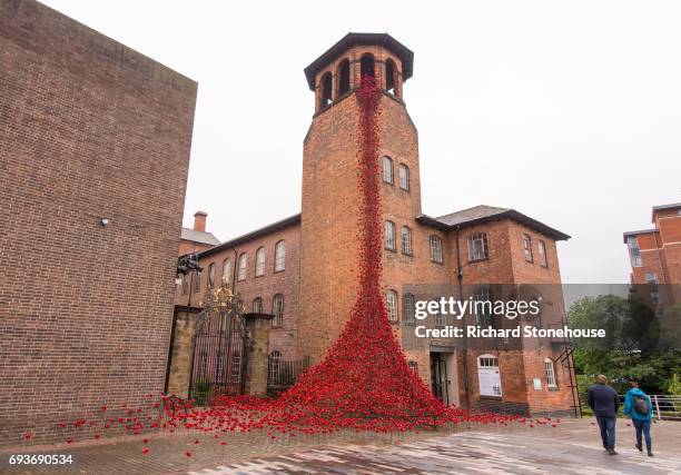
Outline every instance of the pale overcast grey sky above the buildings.
<path fill-rule="evenodd" d="M 572 236 L 565 283 L 624 283 L 622 232 L 681 201 L 681 2 L 46 3 L 199 82 L 185 225 L 221 240 L 299 211 L 303 68 L 348 31 L 415 53 L 424 212 L 515 208 Z"/>

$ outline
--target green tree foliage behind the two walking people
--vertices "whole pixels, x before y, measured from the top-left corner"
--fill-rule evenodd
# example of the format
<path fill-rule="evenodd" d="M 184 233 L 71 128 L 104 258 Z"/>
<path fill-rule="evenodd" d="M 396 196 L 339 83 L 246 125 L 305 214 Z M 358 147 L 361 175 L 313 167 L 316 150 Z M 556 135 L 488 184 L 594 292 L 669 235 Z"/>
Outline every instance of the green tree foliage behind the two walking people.
<path fill-rule="evenodd" d="M 621 393 L 628 379 L 635 379 L 649 393 L 670 390 L 674 373 L 681 367 L 679 314 L 673 307 L 655 314 L 635 295 L 629 298 L 605 295 L 575 301 L 568 314 L 570 326 L 604 328 L 606 335 L 574 340 L 580 392 L 601 373 Z"/>

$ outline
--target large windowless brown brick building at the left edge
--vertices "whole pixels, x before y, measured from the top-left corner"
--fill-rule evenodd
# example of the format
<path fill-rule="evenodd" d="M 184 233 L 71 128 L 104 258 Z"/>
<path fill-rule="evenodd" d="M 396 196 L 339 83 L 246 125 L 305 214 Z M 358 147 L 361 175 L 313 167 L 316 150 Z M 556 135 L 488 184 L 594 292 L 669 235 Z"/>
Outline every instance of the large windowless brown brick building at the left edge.
<path fill-rule="evenodd" d="M 164 389 L 195 81 L 0 2 L 0 445 Z"/>

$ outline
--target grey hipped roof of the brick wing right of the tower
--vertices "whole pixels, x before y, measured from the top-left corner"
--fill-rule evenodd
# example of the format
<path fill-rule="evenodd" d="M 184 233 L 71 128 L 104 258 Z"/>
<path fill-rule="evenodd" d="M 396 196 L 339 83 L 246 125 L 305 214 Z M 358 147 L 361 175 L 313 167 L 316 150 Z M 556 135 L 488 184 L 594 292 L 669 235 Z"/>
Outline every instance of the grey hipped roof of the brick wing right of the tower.
<path fill-rule="evenodd" d="M 420 215 L 416 217 L 417 221 L 442 230 L 481 225 L 497 219 L 514 220 L 524 226 L 527 226 L 530 229 L 534 229 L 535 231 L 549 236 L 555 240 L 570 239 L 569 235 L 559 231 L 557 229 L 554 229 L 550 226 L 546 226 L 543 222 L 537 221 L 536 219 L 525 216 L 522 212 L 519 212 L 515 209 L 511 208 L 499 208 L 495 206 L 478 205 L 474 206 L 473 208 L 451 212 L 438 218 L 433 218 L 426 215 Z"/>

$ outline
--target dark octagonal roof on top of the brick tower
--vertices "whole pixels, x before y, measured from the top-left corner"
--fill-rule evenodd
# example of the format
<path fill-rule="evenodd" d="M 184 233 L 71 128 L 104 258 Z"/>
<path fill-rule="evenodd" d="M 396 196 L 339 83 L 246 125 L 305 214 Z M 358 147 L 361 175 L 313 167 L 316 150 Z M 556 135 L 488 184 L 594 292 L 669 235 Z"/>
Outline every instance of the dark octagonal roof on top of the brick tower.
<path fill-rule="evenodd" d="M 402 61 L 402 80 L 406 81 L 414 71 L 414 52 L 402 44 L 388 33 L 347 33 L 333 47 L 326 50 L 319 58 L 315 59 L 304 69 L 309 90 L 315 90 L 315 77 L 317 72 L 326 68 L 329 62 L 336 59 L 347 49 L 357 44 L 379 44 L 388 51 L 399 57 Z"/>

